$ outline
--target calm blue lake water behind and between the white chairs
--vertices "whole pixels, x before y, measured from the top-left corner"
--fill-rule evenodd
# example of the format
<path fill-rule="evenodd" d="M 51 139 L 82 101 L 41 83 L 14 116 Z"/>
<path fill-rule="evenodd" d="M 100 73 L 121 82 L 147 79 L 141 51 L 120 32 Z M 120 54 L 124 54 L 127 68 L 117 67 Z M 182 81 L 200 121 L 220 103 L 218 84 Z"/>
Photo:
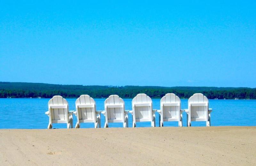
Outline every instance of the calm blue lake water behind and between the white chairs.
<path fill-rule="evenodd" d="M 46 129 L 49 117 L 50 99 L 3 99 L 0 98 L 0 129 Z M 67 99 L 69 110 L 75 110 L 76 99 Z M 104 109 L 105 99 L 95 99 L 97 110 Z M 125 109 L 132 110 L 132 99 L 124 99 Z M 209 100 L 212 126 L 256 126 L 256 100 Z M 181 109 L 188 108 L 188 100 L 181 100 Z M 160 109 L 160 99 L 153 99 L 153 109 Z M 183 126 L 187 125 L 186 113 L 183 113 Z M 74 126 L 76 116 L 74 115 Z M 101 126 L 105 117 L 101 115 Z M 138 122 L 137 127 L 150 127 L 150 122 Z M 156 113 L 156 126 L 159 126 L 159 114 Z M 164 122 L 164 126 L 178 126 L 178 122 Z M 192 122 L 192 126 L 205 126 L 205 122 Z M 66 128 L 67 124 L 53 124 L 53 128 Z M 81 128 L 93 128 L 93 123 L 81 123 Z M 109 127 L 123 127 L 122 123 L 109 123 Z M 132 127 L 132 115 L 129 114 L 129 127 Z"/>

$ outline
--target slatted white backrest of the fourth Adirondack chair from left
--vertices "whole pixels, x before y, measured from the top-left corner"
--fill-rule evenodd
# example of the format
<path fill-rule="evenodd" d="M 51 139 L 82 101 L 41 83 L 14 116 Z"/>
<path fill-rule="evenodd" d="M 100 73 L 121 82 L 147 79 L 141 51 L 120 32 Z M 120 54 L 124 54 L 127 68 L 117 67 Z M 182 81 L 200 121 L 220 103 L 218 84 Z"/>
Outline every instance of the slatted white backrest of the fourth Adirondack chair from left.
<path fill-rule="evenodd" d="M 137 94 L 132 99 L 132 110 L 136 119 L 152 119 L 152 100 L 147 94 Z"/>

